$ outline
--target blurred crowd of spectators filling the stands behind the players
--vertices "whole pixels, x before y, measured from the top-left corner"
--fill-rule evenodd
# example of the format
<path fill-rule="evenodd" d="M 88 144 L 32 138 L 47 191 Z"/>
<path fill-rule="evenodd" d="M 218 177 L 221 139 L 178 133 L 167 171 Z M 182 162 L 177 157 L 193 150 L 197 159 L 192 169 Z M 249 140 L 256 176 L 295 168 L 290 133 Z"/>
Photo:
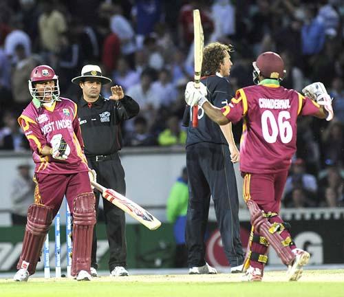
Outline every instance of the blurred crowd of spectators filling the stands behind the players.
<path fill-rule="evenodd" d="M 252 61 L 272 50 L 283 57 L 281 83 L 297 91 L 314 81 L 334 98 L 336 118 L 299 120 L 283 203 L 344 206 L 344 3 L 341 0 L 1 0 L 0 150 L 28 151 L 17 116 L 30 102 L 28 78 L 39 64 L 54 68 L 61 96 L 97 64 L 140 104 L 122 127 L 125 146 L 184 146 L 184 87 L 193 79 L 193 9 L 205 43 L 234 45 L 230 84 L 252 85 Z M 109 85 L 110 87 L 111 85 Z M 109 96 L 109 87 L 102 94 Z M 241 124 L 234 127 L 239 145 Z"/>

